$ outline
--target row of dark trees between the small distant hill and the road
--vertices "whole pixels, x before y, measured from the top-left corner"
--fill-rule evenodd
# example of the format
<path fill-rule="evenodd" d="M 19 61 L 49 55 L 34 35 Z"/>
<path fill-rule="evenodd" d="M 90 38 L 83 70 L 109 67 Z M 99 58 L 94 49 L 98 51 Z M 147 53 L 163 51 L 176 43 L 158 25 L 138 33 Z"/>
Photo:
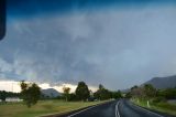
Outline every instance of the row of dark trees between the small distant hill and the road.
<path fill-rule="evenodd" d="M 85 82 L 79 82 L 77 85 L 77 88 L 75 93 L 69 93 L 69 87 L 63 87 L 63 96 L 59 96 L 58 98 L 64 98 L 66 102 L 73 102 L 73 100 L 105 100 L 110 98 L 121 98 L 122 94 L 120 91 L 112 92 L 107 89 L 103 85 L 99 85 L 99 88 L 97 92 L 92 93 Z"/>

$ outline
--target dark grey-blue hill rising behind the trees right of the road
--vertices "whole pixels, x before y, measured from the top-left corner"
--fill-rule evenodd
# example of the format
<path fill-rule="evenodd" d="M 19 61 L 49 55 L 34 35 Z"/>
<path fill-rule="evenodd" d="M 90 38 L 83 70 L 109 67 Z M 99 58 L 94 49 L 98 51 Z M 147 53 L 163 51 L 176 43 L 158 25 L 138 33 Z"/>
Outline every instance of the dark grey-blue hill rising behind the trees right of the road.
<path fill-rule="evenodd" d="M 144 84 L 152 84 L 155 88 L 158 89 L 176 87 L 176 75 L 167 77 L 154 77 Z"/>

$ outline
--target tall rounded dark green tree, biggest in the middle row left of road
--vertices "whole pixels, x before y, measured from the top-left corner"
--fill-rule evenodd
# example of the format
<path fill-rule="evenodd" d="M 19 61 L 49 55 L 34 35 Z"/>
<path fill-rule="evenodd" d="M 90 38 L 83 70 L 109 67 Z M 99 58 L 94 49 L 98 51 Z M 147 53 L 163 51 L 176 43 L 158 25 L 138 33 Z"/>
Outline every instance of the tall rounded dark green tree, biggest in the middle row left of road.
<path fill-rule="evenodd" d="M 76 96 L 79 100 L 86 100 L 90 97 L 90 92 L 85 82 L 79 82 L 76 88 Z"/>

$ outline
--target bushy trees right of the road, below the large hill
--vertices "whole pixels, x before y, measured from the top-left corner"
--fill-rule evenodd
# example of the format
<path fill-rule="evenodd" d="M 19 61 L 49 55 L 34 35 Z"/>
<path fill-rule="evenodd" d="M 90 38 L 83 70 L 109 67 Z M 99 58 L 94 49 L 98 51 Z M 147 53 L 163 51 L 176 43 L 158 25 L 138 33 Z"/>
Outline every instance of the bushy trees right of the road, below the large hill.
<path fill-rule="evenodd" d="M 148 99 L 154 103 L 165 102 L 167 99 L 176 99 L 176 87 L 157 89 L 151 84 L 144 86 L 133 86 L 131 91 L 125 95 L 128 98 Z"/>

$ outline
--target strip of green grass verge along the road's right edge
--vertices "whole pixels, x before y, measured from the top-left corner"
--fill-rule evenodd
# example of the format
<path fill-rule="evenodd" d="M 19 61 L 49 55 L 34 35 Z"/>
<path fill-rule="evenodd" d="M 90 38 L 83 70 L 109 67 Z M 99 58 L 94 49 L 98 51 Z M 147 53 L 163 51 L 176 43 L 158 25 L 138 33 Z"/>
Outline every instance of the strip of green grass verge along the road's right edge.
<path fill-rule="evenodd" d="M 139 106 L 145 107 L 145 108 L 150 108 L 153 110 L 157 110 L 157 111 L 162 111 L 162 113 L 166 113 L 173 116 L 176 116 L 176 104 L 169 104 L 166 102 L 161 102 L 161 103 L 152 103 L 150 102 L 150 107 L 147 106 L 147 103 L 145 99 L 132 99 L 132 102 Z"/>

